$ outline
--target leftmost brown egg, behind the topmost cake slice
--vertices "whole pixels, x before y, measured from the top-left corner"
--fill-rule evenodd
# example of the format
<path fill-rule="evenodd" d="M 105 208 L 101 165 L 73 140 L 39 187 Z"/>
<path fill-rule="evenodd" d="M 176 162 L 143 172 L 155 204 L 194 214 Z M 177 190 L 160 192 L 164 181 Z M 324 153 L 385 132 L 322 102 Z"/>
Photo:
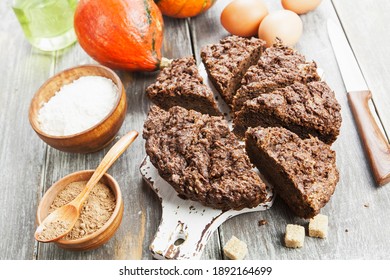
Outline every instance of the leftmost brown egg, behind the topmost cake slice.
<path fill-rule="evenodd" d="M 234 0 L 221 13 L 221 24 L 231 34 L 250 37 L 257 34 L 268 14 L 263 0 Z"/>

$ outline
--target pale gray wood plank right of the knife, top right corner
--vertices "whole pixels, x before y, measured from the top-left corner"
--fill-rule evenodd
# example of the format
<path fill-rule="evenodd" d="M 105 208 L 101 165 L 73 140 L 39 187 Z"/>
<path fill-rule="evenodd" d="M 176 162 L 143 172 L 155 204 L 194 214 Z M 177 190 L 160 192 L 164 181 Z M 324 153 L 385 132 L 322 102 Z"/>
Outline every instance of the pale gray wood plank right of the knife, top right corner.
<path fill-rule="evenodd" d="M 360 64 L 384 129 L 390 133 L 390 2 L 332 1 Z M 387 11 L 387 12 L 385 12 Z"/>

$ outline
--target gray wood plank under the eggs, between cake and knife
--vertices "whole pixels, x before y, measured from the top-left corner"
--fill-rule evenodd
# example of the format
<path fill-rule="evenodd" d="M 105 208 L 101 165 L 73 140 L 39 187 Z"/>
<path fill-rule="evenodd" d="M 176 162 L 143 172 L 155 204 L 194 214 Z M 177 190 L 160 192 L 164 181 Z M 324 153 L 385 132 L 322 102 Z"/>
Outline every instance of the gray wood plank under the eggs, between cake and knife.
<path fill-rule="evenodd" d="M 228 2 L 218 1 L 210 11 L 218 15 Z M 279 1 L 266 3 L 270 11 L 281 8 Z M 358 3 L 355 1 L 354 5 Z M 204 44 L 217 42 L 227 34 L 215 14 L 206 13 L 191 20 L 197 55 Z M 247 243 L 247 259 L 383 259 L 390 256 L 387 241 L 390 227 L 386 218 L 389 215 L 390 192 L 388 188 L 377 189 L 374 186 L 365 161 L 327 35 L 326 21 L 329 17 L 337 20 L 332 4 L 327 0 L 317 10 L 302 15 L 304 33 L 296 46 L 325 71 L 325 79 L 342 106 L 341 134 L 332 146 L 337 153 L 341 177 L 334 196 L 321 211 L 329 216 L 329 237 L 325 240 L 306 237 L 304 248 L 285 248 L 285 226 L 297 223 L 307 227 L 308 221 L 295 217 L 277 198 L 270 210 L 234 217 L 220 227 L 221 247 L 235 235 Z M 367 203 L 369 207 L 364 206 Z M 262 219 L 268 224 L 260 227 L 258 221 Z M 380 230 L 373 232 L 375 228 Z"/>

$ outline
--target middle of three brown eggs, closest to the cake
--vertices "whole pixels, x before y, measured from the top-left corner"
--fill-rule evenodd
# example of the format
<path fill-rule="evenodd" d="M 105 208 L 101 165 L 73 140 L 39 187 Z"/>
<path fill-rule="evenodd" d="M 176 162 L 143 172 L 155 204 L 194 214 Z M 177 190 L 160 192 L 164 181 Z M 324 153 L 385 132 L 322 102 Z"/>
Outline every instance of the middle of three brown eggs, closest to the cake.
<path fill-rule="evenodd" d="M 275 43 L 276 37 L 287 46 L 294 46 L 302 35 L 301 18 L 294 12 L 280 10 L 266 16 L 259 26 L 259 38 L 267 43 L 267 47 Z"/>

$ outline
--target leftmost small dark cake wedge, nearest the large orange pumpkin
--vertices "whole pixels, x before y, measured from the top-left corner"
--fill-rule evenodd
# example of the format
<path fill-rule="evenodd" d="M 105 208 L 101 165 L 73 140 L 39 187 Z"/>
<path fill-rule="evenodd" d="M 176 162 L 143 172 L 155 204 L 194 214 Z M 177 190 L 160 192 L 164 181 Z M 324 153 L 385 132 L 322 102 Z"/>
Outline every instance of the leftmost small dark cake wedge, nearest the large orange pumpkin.
<path fill-rule="evenodd" d="M 193 57 L 173 60 L 146 93 L 153 103 L 165 110 L 181 106 L 203 114 L 221 115 L 212 91 L 203 84 Z"/>

